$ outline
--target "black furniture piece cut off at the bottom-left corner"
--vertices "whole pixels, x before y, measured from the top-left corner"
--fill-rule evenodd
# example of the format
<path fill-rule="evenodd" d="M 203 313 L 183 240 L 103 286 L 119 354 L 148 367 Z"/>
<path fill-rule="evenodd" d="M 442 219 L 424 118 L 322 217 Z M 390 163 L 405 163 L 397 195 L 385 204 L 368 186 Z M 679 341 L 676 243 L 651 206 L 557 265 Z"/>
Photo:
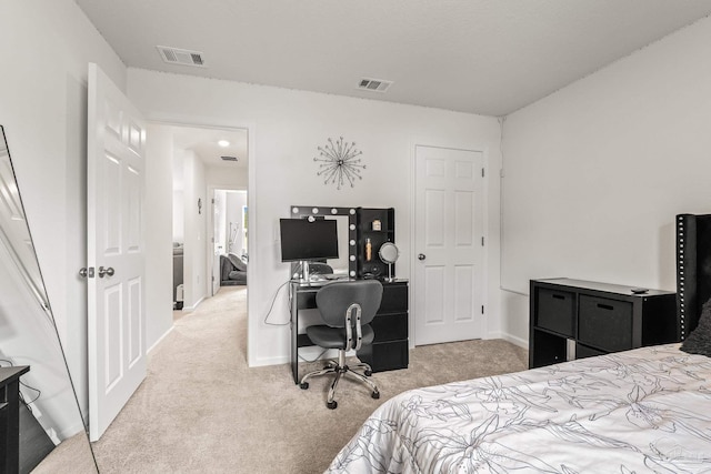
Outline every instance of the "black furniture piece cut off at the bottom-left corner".
<path fill-rule="evenodd" d="M 20 468 L 20 375 L 29 365 L 0 367 L 0 473 Z"/>

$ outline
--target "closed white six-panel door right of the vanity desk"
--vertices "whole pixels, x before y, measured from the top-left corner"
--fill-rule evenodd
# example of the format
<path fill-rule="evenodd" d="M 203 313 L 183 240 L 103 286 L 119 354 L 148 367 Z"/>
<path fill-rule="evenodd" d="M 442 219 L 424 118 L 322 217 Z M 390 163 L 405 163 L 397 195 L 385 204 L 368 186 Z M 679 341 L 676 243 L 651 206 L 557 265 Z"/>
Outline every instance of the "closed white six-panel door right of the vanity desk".
<path fill-rule="evenodd" d="M 481 152 L 415 148 L 417 345 L 482 336 Z"/>

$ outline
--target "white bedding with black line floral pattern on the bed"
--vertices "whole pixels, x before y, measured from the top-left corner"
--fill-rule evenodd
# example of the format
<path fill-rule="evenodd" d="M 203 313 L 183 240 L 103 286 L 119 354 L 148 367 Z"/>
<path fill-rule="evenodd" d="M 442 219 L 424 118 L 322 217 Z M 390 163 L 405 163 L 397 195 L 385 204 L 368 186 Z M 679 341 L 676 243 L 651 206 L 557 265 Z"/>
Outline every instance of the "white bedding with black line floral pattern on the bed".
<path fill-rule="evenodd" d="M 711 359 L 668 344 L 404 392 L 327 472 L 513 471 L 711 472 Z"/>

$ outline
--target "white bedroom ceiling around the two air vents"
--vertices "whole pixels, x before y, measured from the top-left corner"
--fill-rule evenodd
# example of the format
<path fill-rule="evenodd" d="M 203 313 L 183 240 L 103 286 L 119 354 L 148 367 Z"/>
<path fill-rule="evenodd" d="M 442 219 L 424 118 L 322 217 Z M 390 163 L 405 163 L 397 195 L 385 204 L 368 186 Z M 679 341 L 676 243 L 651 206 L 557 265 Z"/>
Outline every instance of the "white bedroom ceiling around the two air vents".
<path fill-rule="evenodd" d="M 497 117 L 711 13 L 711 0 L 76 2 L 128 67 Z M 357 90 L 363 77 L 394 83 Z"/>

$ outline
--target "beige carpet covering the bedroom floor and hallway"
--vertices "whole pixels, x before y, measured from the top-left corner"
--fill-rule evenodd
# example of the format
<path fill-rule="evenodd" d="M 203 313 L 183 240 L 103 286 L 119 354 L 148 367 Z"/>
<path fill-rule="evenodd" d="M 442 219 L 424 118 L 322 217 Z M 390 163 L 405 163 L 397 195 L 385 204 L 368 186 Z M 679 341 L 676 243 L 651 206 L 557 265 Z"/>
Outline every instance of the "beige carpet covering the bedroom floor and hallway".
<path fill-rule="evenodd" d="M 246 297 L 243 288 L 223 288 L 177 317 L 148 377 L 94 444 L 102 473 L 320 473 L 393 395 L 527 369 L 527 352 L 500 340 L 417 347 L 409 369 L 373 374 L 380 400 L 347 380 L 331 411 L 326 377 L 303 391 L 288 364 L 247 366 Z"/>

